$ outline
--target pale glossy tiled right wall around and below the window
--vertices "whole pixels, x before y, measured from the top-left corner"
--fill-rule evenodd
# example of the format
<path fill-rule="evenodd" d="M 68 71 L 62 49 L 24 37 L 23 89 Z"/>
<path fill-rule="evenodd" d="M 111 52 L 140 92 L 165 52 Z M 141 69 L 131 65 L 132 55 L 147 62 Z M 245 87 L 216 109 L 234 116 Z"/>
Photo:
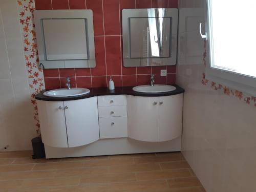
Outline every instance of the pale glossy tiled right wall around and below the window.
<path fill-rule="evenodd" d="M 256 191 L 255 106 L 201 83 L 203 40 L 198 22 L 204 19 L 203 3 L 179 2 L 180 8 L 186 7 L 180 14 L 184 31 L 179 34 L 176 81 L 186 91 L 182 153 L 207 192 Z"/>

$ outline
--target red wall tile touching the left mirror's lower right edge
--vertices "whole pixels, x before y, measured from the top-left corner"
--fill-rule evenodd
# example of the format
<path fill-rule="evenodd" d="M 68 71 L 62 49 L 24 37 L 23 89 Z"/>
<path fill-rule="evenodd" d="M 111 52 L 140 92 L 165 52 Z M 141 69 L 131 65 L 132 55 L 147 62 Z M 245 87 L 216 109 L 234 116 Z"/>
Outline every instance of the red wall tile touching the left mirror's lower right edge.
<path fill-rule="evenodd" d="M 96 67 L 92 68 L 93 76 L 106 75 L 105 42 L 104 37 L 94 37 Z"/>

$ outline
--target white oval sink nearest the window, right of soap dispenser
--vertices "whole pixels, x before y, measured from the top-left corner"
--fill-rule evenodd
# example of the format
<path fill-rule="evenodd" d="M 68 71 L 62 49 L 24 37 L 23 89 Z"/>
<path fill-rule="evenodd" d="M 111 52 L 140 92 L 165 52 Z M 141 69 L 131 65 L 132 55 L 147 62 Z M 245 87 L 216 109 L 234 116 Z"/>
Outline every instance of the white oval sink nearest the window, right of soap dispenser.
<path fill-rule="evenodd" d="M 154 86 L 137 86 L 133 88 L 133 91 L 141 93 L 164 93 L 176 90 L 174 86 L 168 86 L 166 84 L 155 84 Z"/>

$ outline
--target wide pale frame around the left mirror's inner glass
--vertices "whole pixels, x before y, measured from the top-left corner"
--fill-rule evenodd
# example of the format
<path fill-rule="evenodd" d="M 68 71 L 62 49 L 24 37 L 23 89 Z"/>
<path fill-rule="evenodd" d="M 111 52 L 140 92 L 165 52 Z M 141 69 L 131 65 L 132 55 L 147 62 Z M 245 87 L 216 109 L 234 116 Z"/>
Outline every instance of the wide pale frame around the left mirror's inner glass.
<path fill-rule="evenodd" d="M 86 19 L 86 30 L 88 37 L 88 59 L 47 60 L 44 40 L 44 29 L 42 27 L 43 19 Z M 39 67 L 43 69 L 96 67 L 92 10 L 35 10 L 34 22 L 38 48 Z"/>

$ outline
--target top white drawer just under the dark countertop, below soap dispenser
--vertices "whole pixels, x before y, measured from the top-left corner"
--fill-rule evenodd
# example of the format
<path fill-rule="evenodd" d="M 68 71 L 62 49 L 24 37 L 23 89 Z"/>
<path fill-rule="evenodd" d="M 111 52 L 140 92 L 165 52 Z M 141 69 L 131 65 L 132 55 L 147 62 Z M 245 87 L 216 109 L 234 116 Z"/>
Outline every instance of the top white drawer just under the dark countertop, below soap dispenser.
<path fill-rule="evenodd" d="M 98 106 L 126 105 L 126 95 L 98 96 Z"/>

